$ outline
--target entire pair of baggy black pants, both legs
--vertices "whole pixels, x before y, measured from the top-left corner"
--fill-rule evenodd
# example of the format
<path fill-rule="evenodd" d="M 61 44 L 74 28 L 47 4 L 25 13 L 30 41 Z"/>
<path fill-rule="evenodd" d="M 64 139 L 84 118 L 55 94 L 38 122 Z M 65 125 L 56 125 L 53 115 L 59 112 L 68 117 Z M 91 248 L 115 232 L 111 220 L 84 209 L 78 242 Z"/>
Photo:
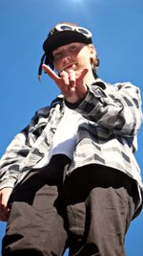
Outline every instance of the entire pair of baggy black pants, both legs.
<path fill-rule="evenodd" d="M 15 188 L 3 256 L 60 256 L 66 246 L 70 255 L 125 255 L 135 208 L 133 180 L 91 165 L 76 170 L 62 185 L 67 163 L 68 158 L 53 157 L 49 168 L 34 170 Z"/>

